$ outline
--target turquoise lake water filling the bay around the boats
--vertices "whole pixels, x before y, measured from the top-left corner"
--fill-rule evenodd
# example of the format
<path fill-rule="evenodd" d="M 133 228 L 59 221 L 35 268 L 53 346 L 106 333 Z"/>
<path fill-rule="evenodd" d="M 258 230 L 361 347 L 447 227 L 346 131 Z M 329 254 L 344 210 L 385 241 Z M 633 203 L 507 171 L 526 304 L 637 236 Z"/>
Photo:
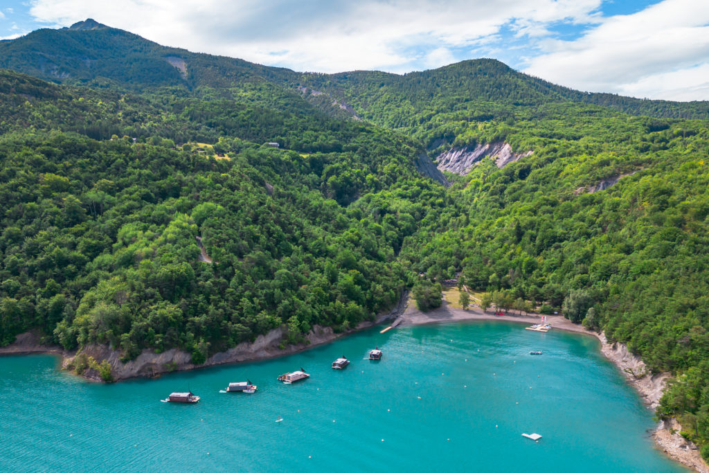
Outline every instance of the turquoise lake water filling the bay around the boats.
<path fill-rule="evenodd" d="M 382 360 L 364 360 L 375 345 Z M 350 366 L 331 369 L 341 355 Z M 118 384 L 56 364 L 0 358 L 1 471 L 686 471 L 654 449 L 651 414 L 596 340 L 512 323 L 371 330 L 277 360 Z M 300 367 L 310 379 L 276 381 Z M 219 393 L 247 378 L 256 394 Z M 190 388 L 199 404 L 160 402 Z"/>

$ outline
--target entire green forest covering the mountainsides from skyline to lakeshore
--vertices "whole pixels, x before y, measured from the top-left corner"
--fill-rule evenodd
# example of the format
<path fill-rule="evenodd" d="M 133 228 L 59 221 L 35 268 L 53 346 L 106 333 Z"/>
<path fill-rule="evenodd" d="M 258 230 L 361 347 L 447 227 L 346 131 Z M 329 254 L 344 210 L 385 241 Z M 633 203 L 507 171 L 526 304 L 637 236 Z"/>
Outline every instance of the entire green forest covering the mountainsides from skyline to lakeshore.
<path fill-rule="evenodd" d="M 1 42 L 0 67 L 0 345 L 35 329 L 199 364 L 277 327 L 349 330 L 405 290 L 435 307 L 459 275 L 670 372 L 657 415 L 709 459 L 708 102 L 494 60 L 301 74 L 107 27 Z M 503 142 L 529 154 L 419 169 Z"/>

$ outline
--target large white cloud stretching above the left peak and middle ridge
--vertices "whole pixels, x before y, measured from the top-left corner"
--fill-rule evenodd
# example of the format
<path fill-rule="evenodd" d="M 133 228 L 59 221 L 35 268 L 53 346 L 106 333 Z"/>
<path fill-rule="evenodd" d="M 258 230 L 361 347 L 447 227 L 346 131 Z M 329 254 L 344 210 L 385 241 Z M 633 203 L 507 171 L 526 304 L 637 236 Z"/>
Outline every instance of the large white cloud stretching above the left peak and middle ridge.
<path fill-rule="evenodd" d="M 65 26 L 91 17 L 161 44 L 296 70 L 403 72 L 430 51 L 474 45 L 519 18 L 529 22 L 528 26 L 520 23 L 520 28 L 537 30 L 554 21 L 591 21 L 600 4 L 601 0 L 303 0 L 297 4 L 287 0 L 31 0 L 30 13 L 39 21 Z"/>

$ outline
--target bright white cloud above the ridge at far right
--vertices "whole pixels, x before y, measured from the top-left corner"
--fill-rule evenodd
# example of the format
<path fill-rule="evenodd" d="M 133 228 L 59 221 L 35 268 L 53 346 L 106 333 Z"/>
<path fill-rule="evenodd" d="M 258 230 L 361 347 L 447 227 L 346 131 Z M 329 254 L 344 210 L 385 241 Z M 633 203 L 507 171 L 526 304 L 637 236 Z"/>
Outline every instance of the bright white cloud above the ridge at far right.
<path fill-rule="evenodd" d="M 545 40 L 525 72 L 586 91 L 709 99 L 709 2 L 664 0 L 573 41 Z"/>

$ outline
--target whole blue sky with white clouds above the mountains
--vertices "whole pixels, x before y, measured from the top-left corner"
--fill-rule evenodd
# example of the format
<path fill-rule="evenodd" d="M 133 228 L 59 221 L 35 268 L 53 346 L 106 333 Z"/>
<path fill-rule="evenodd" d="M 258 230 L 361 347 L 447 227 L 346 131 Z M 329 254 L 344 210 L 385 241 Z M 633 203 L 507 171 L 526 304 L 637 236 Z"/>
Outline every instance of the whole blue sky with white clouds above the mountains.
<path fill-rule="evenodd" d="M 492 57 L 582 91 L 709 100 L 709 0 L 0 0 L 0 39 L 86 18 L 303 72 Z"/>

